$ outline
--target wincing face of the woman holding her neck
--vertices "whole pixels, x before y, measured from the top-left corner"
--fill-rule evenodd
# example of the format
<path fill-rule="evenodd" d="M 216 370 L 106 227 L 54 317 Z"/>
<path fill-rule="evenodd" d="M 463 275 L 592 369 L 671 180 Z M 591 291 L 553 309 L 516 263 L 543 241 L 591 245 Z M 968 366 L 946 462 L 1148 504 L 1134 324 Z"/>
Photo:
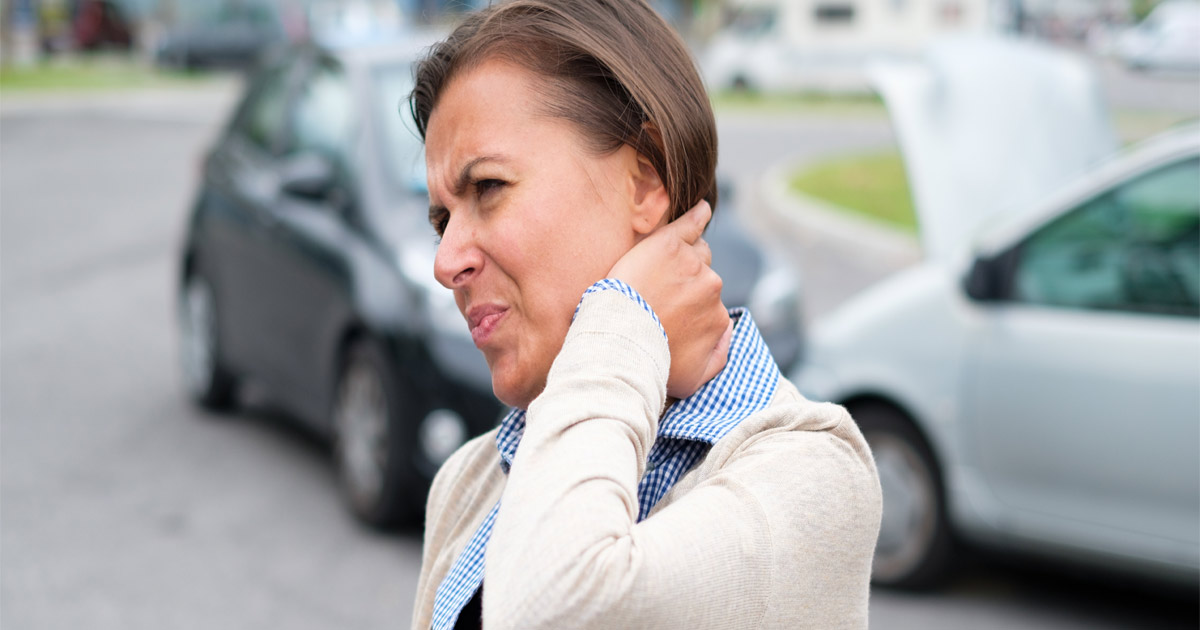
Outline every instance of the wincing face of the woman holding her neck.
<path fill-rule="evenodd" d="M 504 403 L 546 384 L 583 292 L 634 246 L 638 161 L 596 156 L 541 113 L 536 76 L 491 60 L 454 78 L 430 116 L 434 275 L 454 289 Z"/>

